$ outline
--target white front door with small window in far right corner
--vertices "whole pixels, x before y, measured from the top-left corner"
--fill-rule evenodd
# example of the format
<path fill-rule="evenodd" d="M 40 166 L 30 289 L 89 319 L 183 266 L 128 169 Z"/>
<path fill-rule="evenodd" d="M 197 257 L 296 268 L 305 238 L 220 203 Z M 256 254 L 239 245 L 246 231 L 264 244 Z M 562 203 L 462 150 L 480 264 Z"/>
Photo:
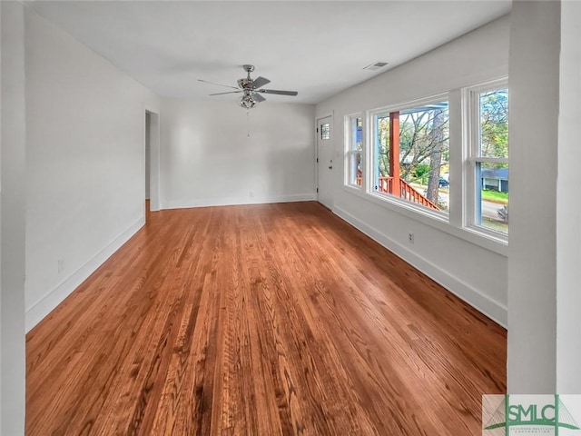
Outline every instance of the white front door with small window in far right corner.
<path fill-rule="evenodd" d="M 317 174 L 319 203 L 332 208 L 333 205 L 333 141 L 331 117 L 317 120 Z"/>

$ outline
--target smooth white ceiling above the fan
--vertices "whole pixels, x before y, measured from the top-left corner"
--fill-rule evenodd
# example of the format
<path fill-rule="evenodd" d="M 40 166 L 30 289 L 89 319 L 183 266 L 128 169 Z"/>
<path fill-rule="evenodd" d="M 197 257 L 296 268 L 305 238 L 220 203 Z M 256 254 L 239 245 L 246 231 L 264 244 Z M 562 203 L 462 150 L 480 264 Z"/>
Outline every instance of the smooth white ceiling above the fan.
<path fill-rule="evenodd" d="M 510 11 L 501 1 L 26 2 L 156 94 L 206 98 L 242 64 L 318 103 Z M 389 62 L 378 71 L 363 67 Z M 232 94 L 208 97 L 234 101 Z"/>

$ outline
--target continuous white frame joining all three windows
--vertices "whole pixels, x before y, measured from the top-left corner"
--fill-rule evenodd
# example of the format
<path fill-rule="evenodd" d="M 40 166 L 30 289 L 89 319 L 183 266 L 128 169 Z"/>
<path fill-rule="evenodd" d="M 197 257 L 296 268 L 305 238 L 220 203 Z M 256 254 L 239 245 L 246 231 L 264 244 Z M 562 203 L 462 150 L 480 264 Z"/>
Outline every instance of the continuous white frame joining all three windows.
<path fill-rule="evenodd" d="M 378 207 L 398 213 L 407 219 L 414 220 L 418 223 L 423 223 L 440 232 L 448 233 L 467 241 L 474 243 L 482 248 L 485 248 L 493 253 L 498 253 L 507 256 L 508 238 L 507 233 L 495 232 L 493 230 L 487 231 L 486 227 L 470 225 L 468 221 L 470 204 L 474 204 L 473 195 L 468 199 L 468 182 L 470 175 L 473 173 L 470 169 L 469 150 L 472 146 L 473 140 L 470 138 L 470 123 L 478 123 L 479 117 L 476 119 L 470 114 L 470 105 L 468 104 L 468 91 L 489 90 L 490 87 L 497 85 L 498 89 L 507 87 L 507 74 L 497 75 L 492 79 L 485 79 L 480 81 L 468 82 L 460 84 L 457 87 L 449 88 L 445 91 L 428 94 L 424 97 L 416 99 L 405 100 L 404 103 L 399 104 L 384 104 L 381 106 L 371 107 L 365 110 L 359 110 L 349 114 L 344 114 L 344 141 L 343 151 L 347 158 L 349 151 L 350 132 L 348 129 L 349 118 L 364 114 L 362 117 L 362 140 L 363 140 L 363 154 L 361 161 L 361 171 L 363 173 L 362 186 L 349 184 L 346 169 L 348 168 L 348 161 L 345 159 L 344 173 L 343 173 L 343 191 L 359 197 L 369 203 L 374 203 Z M 404 199 L 399 199 L 394 195 L 387 195 L 376 193 L 374 191 L 374 168 L 373 159 L 375 153 L 375 140 L 373 115 L 381 113 L 406 111 L 414 106 L 421 104 L 434 103 L 438 101 L 448 101 L 448 115 L 449 115 L 449 211 L 448 213 L 441 213 L 433 209 L 409 202 Z M 470 119 L 472 118 L 472 120 Z M 483 160 L 486 160 L 484 158 Z M 475 191 L 472 191 L 475 193 Z M 337 213 L 350 223 L 359 223 L 357 217 L 350 215 L 342 210 L 339 206 L 335 206 Z M 364 225 L 362 223 L 359 223 Z M 376 233 L 376 230 L 369 227 L 369 233 Z M 379 234 L 379 233 L 378 233 Z M 379 234 L 379 237 L 381 235 Z"/>

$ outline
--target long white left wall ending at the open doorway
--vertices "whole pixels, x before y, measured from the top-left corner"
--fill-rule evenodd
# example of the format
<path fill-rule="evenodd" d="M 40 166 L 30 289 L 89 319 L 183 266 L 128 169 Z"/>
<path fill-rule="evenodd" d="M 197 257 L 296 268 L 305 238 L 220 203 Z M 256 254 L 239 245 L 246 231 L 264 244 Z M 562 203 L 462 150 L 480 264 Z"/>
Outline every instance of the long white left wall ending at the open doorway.
<path fill-rule="evenodd" d="M 143 225 L 145 108 L 159 111 L 143 85 L 34 12 L 25 26 L 30 329 Z"/>

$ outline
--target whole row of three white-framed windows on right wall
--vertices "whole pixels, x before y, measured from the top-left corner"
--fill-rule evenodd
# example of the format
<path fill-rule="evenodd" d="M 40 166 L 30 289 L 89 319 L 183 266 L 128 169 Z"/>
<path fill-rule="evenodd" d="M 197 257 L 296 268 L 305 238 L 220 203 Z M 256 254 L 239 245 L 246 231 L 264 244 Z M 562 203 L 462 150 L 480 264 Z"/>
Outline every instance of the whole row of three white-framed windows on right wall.
<path fill-rule="evenodd" d="M 507 88 L 503 78 L 346 115 L 346 189 L 506 253 Z"/>

